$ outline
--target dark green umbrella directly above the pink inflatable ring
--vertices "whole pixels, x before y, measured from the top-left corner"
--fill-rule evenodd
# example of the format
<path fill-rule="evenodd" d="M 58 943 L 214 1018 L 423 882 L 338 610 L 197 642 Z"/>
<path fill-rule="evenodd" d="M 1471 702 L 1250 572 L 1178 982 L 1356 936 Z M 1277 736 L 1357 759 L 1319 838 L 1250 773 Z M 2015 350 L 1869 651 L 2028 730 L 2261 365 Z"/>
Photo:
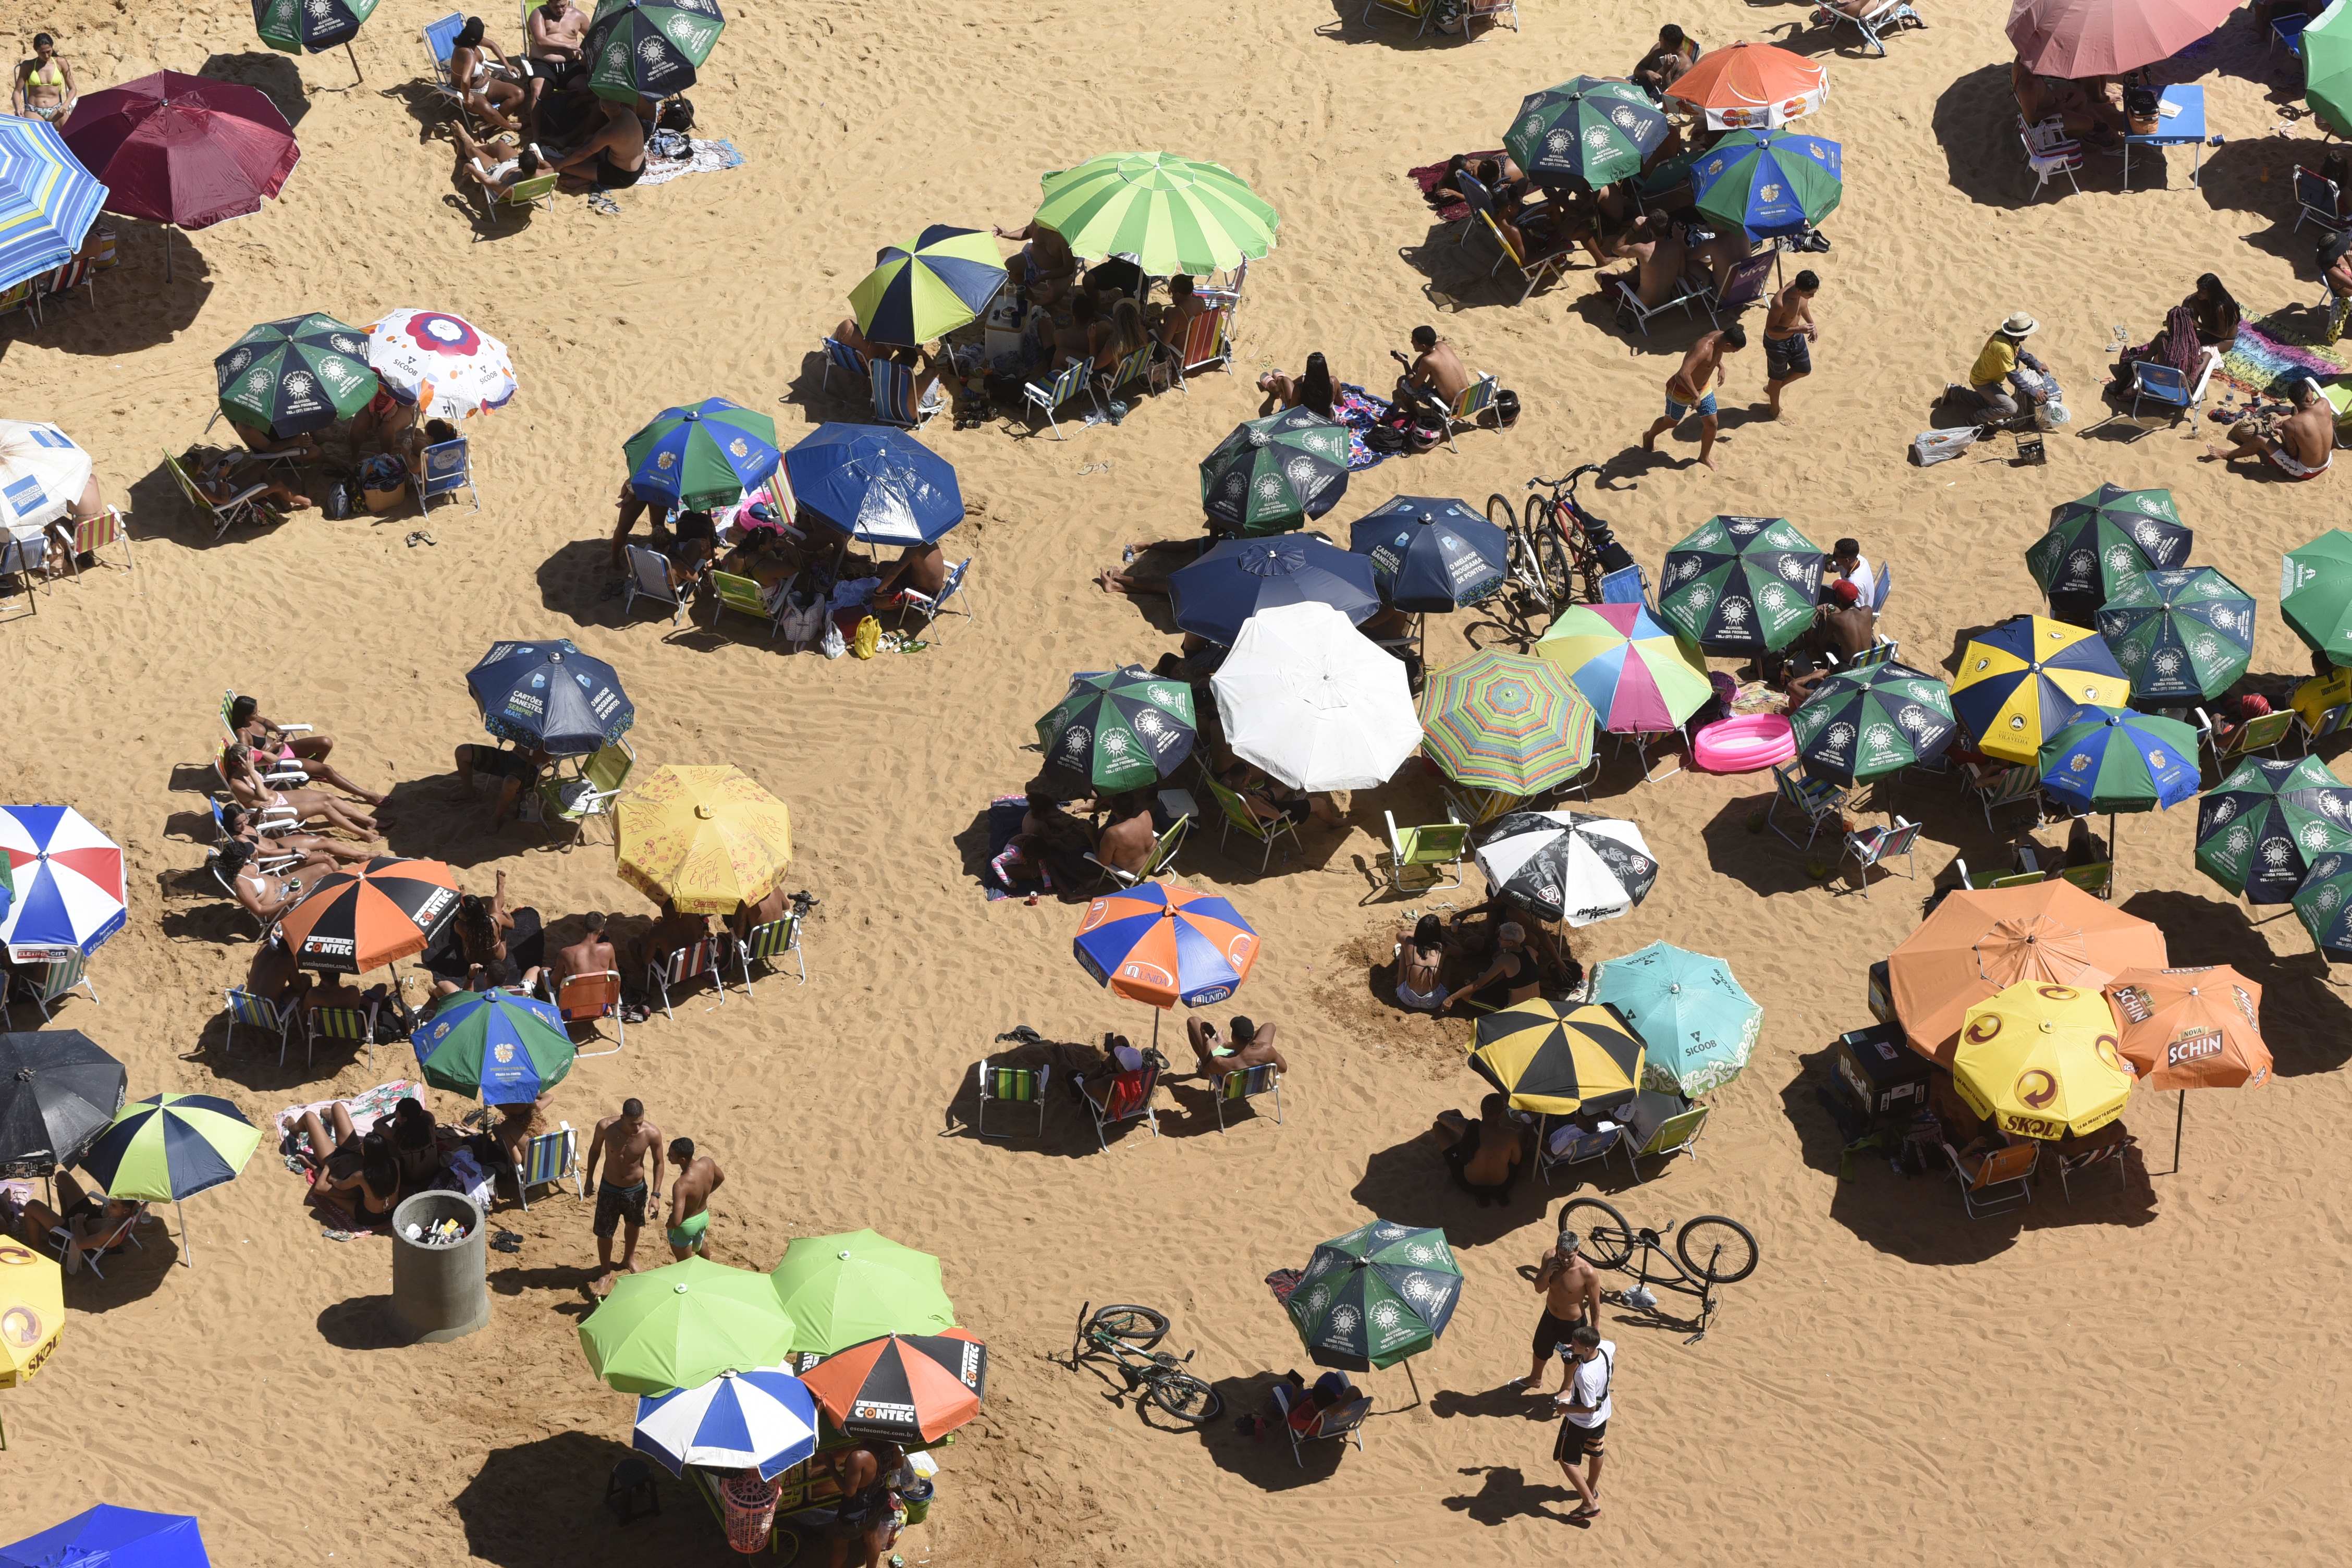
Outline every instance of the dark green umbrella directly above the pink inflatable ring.
<path fill-rule="evenodd" d="M 1658 618 L 1710 654 L 1778 654 L 1813 630 L 1823 559 L 1785 517 L 1708 517 L 1665 552 Z"/>

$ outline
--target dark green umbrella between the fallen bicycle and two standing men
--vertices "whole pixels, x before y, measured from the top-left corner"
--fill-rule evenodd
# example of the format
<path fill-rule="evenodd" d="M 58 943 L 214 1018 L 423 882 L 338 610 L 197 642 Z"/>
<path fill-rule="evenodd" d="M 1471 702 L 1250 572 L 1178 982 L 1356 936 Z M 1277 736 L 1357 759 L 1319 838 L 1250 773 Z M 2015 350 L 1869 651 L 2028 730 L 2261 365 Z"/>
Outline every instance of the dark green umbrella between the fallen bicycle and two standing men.
<path fill-rule="evenodd" d="M 1446 1232 L 1374 1220 L 1317 1241 L 1282 1307 L 1315 1366 L 1369 1373 L 1435 1345 L 1461 1293 Z"/>

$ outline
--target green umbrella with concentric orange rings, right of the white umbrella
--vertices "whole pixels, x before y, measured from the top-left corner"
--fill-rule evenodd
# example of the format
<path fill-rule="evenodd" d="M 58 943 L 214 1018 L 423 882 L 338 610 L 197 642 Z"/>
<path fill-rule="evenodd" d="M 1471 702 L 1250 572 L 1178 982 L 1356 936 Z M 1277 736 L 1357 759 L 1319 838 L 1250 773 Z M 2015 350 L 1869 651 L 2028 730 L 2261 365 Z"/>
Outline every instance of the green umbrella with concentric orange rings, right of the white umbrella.
<path fill-rule="evenodd" d="M 1592 703 L 1550 661 L 1482 649 L 1421 686 L 1421 733 L 1454 783 L 1538 795 L 1592 762 Z"/>

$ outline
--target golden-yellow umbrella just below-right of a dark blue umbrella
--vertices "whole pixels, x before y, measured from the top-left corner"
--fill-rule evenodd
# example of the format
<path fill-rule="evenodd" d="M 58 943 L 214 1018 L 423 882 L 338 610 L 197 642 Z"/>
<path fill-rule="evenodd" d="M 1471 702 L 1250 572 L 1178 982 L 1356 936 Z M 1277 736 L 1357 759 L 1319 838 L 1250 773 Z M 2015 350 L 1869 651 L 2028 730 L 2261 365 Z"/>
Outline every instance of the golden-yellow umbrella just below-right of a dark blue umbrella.
<path fill-rule="evenodd" d="M 783 882 L 793 818 L 731 766 L 659 766 L 616 809 L 621 875 L 680 914 L 734 914 Z"/>

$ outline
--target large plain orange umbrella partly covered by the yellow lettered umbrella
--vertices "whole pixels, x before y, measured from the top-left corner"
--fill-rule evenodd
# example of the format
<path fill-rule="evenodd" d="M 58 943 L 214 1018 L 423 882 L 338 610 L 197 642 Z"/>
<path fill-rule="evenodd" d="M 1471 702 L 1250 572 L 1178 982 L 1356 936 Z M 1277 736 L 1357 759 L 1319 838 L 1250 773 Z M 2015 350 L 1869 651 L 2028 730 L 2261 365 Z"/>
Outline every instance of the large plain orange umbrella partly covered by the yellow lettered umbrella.
<path fill-rule="evenodd" d="M 1952 1065 L 1969 1009 L 2018 980 L 2100 987 L 2164 969 L 2164 933 L 2072 882 L 1952 893 L 1886 959 L 1896 1018 L 1922 1056 Z"/>

